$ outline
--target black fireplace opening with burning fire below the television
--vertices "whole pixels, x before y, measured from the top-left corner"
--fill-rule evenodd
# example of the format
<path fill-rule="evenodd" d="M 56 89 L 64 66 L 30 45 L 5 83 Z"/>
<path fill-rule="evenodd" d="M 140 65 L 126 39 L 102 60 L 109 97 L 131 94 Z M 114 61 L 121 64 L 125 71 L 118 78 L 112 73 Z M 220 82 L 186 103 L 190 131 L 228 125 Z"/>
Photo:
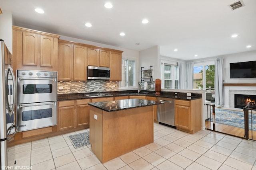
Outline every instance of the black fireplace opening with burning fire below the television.
<path fill-rule="evenodd" d="M 234 98 L 235 108 L 243 108 L 247 104 L 251 106 L 251 108 L 256 109 L 256 95 L 248 95 L 248 94 L 235 94 Z"/>

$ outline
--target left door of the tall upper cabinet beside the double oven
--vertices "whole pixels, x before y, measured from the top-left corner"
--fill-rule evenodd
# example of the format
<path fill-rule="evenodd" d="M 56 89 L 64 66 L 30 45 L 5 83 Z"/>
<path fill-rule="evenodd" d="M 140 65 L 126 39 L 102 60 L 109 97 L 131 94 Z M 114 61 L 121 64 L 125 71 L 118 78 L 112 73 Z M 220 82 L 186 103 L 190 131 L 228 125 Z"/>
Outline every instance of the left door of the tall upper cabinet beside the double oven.
<path fill-rule="evenodd" d="M 58 44 L 58 80 L 73 79 L 73 45 Z"/>

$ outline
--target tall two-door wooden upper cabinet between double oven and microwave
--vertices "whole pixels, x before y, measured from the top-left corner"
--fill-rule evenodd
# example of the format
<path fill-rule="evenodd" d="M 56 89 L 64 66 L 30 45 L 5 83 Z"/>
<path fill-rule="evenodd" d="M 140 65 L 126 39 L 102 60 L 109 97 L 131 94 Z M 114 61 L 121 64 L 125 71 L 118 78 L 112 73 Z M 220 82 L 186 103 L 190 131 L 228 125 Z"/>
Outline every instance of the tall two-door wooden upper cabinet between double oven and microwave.
<path fill-rule="evenodd" d="M 87 47 L 59 40 L 58 44 L 58 80 L 87 79 Z"/>

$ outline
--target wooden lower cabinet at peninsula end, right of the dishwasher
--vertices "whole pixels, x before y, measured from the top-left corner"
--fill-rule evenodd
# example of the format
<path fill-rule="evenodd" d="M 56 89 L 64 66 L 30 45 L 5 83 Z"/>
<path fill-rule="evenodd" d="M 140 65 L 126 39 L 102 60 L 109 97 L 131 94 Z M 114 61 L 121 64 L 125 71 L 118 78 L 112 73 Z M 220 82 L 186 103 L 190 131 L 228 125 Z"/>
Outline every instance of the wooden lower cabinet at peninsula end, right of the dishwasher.
<path fill-rule="evenodd" d="M 192 134 L 201 130 L 201 99 L 175 100 L 175 126 Z"/>

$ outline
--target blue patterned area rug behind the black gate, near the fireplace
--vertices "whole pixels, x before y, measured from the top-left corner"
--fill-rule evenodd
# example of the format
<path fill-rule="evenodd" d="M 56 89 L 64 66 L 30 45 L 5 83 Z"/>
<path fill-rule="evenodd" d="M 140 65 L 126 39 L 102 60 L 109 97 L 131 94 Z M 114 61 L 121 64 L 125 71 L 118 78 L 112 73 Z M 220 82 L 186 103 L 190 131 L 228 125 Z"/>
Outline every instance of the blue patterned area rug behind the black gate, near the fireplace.
<path fill-rule="evenodd" d="M 211 110 L 212 113 L 212 110 Z M 256 131 L 256 114 L 249 113 L 249 130 Z M 212 115 L 211 115 L 212 116 Z M 211 118 L 212 121 L 212 118 Z M 244 111 L 219 109 L 215 107 L 215 123 L 244 128 Z M 252 127 L 251 127 L 252 123 Z"/>

